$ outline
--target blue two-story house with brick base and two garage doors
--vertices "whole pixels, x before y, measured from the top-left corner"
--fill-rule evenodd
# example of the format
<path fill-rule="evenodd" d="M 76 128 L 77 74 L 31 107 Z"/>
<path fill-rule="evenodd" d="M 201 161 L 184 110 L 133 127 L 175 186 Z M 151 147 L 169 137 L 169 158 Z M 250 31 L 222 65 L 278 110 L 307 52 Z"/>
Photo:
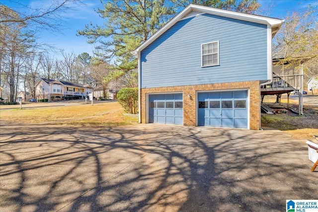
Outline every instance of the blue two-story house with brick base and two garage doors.
<path fill-rule="evenodd" d="M 260 129 L 283 20 L 190 4 L 140 45 L 141 123 Z"/>

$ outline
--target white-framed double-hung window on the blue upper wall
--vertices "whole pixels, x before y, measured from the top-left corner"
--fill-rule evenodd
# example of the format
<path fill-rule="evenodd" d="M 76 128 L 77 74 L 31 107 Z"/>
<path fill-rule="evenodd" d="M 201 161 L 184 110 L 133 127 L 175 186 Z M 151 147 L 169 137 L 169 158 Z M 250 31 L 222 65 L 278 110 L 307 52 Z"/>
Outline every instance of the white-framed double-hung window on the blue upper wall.
<path fill-rule="evenodd" d="M 219 41 L 201 44 L 202 67 L 219 65 Z"/>

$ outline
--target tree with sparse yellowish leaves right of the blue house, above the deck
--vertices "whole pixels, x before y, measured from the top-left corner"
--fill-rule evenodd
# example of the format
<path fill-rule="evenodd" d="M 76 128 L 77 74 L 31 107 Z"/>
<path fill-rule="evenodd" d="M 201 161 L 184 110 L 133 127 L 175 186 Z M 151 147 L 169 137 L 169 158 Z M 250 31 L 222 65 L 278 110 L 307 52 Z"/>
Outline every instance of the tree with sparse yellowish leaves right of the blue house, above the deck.
<path fill-rule="evenodd" d="M 303 64 L 305 76 L 318 74 L 317 27 L 317 10 L 316 13 L 314 10 L 291 13 L 274 38 L 273 57 L 291 63 L 295 61 L 291 59 L 306 58 Z"/>

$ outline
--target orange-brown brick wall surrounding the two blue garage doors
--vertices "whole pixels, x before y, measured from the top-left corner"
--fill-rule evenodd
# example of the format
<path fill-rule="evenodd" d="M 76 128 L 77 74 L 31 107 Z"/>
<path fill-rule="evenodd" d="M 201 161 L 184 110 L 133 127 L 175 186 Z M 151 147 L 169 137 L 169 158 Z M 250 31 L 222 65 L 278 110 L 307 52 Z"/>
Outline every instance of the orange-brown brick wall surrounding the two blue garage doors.
<path fill-rule="evenodd" d="M 170 86 L 141 89 L 141 122 L 146 123 L 146 94 L 152 93 L 183 93 L 183 125 L 196 126 L 196 92 L 218 90 L 249 90 L 249 129 L 260 128 L 260 89 L 259 81 L 229 82 L 216 84 Z M 188 95 L 190 94 L 190 98 Z"/>

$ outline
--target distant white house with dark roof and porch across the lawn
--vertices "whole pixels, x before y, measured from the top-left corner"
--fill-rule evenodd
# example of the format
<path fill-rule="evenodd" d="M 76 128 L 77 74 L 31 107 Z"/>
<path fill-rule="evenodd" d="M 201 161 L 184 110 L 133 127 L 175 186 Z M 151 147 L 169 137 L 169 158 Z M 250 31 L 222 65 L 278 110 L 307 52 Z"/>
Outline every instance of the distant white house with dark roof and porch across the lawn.
<path fill-rule="evenodd" d="M 60 79 L 41 78 L 35 84 L 35 96 L 37 99 L 61 99 L 62 96 L 80 96 L 84 98 L 92 93 L 90 85 L 62 81 Z"/>

